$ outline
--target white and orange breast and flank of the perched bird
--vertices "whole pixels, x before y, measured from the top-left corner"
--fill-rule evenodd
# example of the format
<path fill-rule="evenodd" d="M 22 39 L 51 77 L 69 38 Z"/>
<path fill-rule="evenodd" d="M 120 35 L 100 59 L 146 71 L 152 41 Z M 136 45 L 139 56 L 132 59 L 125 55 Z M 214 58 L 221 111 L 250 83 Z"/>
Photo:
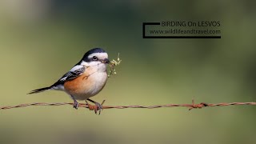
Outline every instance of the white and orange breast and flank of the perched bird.
<path fill-rule="evenodd" d="M 106 71 L 99 71 L 89 67 L 78 78 L 65 82 L 64 88 L 75 99 L 85 100 L 98 94 L 105 86 L 106 80 Z"/>

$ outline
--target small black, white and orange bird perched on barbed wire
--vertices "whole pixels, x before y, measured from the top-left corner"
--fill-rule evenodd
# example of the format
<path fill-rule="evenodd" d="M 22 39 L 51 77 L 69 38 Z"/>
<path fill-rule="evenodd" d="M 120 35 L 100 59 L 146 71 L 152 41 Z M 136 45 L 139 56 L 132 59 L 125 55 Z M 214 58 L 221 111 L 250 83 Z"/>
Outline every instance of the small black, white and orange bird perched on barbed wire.
<path fill-rule="evenodd" d="M 75 109 L 78 109 L 79 106 L 77 100 L 88 100 L 98 107 L 100 114 L 102 105 L 94 102 L 90 97 L 98 94 L 106 85 L 109 63 L 106 51 L 102 48 L 94 48 L 87 51 L 82 59 L 53 85 L 31 90 L 28 94 L 37 94 L 46 90 L 61 90 L 73 99 Z M 95 113 L 97 114 L 97 110 Z"/>

